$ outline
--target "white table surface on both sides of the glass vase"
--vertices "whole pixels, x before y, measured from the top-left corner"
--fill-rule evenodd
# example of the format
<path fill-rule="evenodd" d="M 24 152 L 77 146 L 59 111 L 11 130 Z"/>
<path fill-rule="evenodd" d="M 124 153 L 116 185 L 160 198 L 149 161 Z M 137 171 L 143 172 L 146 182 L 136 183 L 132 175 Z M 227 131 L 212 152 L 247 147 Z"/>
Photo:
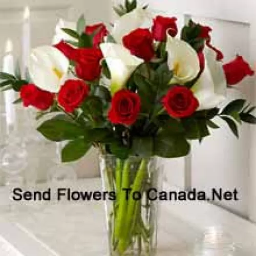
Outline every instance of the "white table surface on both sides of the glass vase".
<path fill-rule="evenodd" d="M 100 179 L 72 184 L 100 190 Z M 164 189 L 169 190 L 167 186 Z M 189 256 L 203 230 L 222 227 L 238 246 L 236 256 L 256 255 L 256 225 L 215 205 L 162 202 L 158 256 Z M 104 256 L 106 234 L 102 202 L 45 203 L 0 214 L 0 256 Z"/>

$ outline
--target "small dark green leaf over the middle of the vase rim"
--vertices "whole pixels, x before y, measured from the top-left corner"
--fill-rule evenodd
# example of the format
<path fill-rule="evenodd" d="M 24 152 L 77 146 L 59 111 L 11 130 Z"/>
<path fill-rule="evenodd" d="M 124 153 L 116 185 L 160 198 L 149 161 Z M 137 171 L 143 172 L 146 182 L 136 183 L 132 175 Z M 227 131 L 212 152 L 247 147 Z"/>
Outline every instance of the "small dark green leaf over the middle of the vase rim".
<path fill-rule="evenodd" d="M 132 144 L 132 153 L 135 156 L 151 157 L 153 155 L 153 138 L 135 137 Z"/>

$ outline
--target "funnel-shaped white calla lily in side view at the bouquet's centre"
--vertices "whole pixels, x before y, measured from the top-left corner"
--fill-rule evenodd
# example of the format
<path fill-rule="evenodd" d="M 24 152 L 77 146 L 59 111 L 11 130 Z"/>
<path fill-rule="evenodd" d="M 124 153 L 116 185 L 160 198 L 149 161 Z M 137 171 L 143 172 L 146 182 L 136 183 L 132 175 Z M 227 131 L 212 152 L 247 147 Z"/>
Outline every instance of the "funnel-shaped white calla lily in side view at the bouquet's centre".
<path fill-rule="evenodd" d="M 105 61 L 111 73 L 111 94 L 124 88 L 136 68 L 144 62 L 119 44 L 103 43 L 100 45 Z"/>

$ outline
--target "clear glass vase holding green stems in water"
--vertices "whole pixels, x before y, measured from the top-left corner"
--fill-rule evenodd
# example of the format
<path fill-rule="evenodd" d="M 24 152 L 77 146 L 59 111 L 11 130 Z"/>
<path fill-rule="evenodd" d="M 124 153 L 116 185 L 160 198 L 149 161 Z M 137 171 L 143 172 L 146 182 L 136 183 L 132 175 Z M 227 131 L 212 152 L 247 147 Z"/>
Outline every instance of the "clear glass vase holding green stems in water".
<path fill-rule="evenodd" d="M 154 256 L 161 168 L 155 158 L 100 156 L 109 256 Z"/>

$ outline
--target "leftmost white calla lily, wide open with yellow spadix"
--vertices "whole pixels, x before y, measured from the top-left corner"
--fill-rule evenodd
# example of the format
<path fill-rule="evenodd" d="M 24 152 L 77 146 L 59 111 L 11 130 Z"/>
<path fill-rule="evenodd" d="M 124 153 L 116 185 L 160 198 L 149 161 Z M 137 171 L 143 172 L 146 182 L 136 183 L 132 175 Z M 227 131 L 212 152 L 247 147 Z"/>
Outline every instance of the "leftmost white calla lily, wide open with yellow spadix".
<path fill-rule="evenodd" d="M 57 93 L 67 78 L 69 60 L 52 46 L 40 46 L 31 51 L 28 69 L 35 85 Z"/>

